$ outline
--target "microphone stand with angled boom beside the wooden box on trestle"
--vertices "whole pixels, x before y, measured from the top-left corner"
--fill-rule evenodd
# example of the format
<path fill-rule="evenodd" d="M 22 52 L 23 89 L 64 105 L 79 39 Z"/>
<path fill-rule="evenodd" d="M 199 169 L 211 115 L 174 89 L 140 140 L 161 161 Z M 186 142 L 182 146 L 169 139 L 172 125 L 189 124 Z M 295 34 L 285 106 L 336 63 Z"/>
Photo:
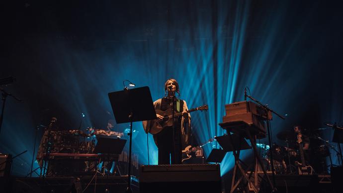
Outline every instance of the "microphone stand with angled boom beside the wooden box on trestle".
<path fill-rule="evenodd" d="M 274 110 L 272 110 L 271 108 L 269 108 L 267 105 L 264 105 L 262 104 L 260 101 L 258 101 L 257 99 L 255 99 L 254 97 L 252 96 L 249 96 L 247 95 L 246 93 L 246 90 L 245 90 L 245 97 L 248 97 L 252 100 L 254 100 L 255 102 L 257 102 L 259 105 L 261 105 L 265 110 L 266 110 L 266 125 L 267 125 L 267 132 L 268 132 L 268 142 L 269 142 L 269 147 L 271 148 L 271 126 L 270 126 L 270 120 L 269 120 L 269 117 L 268 117 L 268 112 L 272 112 L 274 114 L 276 114 L 278 117 L 282 118 L 282 119 L 285 119 L 283 116 L 279 115 L 277 112 L 275 112 Z M 273 186 L 274 186 L 274 189 L 275 189 L 275 174 L 274 174 L 274 164 L 273 164 L 273 154 L 270 152 L 270 165 L 271 165 L 271 174 L 272 174 L 272 177 L 273 177 Z M 272 190 L 272 192 L 274 192 L 275 190 Z"/>

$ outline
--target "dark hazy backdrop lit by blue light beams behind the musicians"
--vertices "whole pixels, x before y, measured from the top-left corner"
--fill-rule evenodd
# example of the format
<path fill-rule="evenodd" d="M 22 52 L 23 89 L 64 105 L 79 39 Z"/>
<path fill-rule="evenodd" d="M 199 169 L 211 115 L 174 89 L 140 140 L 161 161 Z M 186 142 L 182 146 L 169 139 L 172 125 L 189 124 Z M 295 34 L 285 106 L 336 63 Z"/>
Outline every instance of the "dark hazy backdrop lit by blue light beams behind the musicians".
<path fill-rule="evenodd" d="M 324 122 L 343 124 L 342 10 L 336 1 L 28 0 L 3 8 L 0 78 L 15 77 L 4 89 L 23 101 L 7 98 L 0 152 L 28 150 L 13 161 L 12 175 L 30 171 L 35 126 L 52 116 L 65 129 L 77 129 L 81 113 L 82 129 L 105 127 L 114 118 L 107 93 L 122 90 L 123 80 L 149 86 L 155 100 L 174 78 L 188 107 L 208 104 L 208 112 L 192 113 L 198 144 L 223 134 L 224 105 L 243 100 L 246 86 L 287 114 L 271 122 L 280 145 L 276 134 L 295 124 L 311 131 Z M 146 135 L 140 122 L 133 126 L 140 132 L 133 149 L 147 164 Z M 333 131 L 321 135 L 331 140 Z M 151 135 L 149 145 L 150 163 L 157 164 Z M 206 145 L 205 155 L 211 149 Z M 233 161 L 228 153 L 222 175 Z"/>

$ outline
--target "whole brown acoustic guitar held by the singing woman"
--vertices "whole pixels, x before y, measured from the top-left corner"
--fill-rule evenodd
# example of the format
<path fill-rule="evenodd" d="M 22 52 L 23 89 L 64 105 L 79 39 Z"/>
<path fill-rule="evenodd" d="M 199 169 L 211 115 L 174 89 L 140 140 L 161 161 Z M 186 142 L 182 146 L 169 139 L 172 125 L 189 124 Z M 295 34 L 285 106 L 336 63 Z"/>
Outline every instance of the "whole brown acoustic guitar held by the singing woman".
<path fill-rule="evenodd" d="M 196 110 L 201 110 L 201 111 L 208 110 L 208 106 L 207 106 L 207 104 L 204 104 L 202 106 L 189 109 L 186 112 L 189 113 L 189 112 L 193 112 Z M 155 111 L 156 111 L 156 114 L 163 116 L 163 119 L 162 120 L 158 120 L 158 119 L 151 120 L 151 126 L 150 126 L 149 133 L 151 133 L 153 135 L 161 132 L 164 127 L 172 126 L 172 109 L 171 108 L 169 108 L 165 111 L 158 110 L 158 109 L 156 109 Z M 179 117 L 179 116 L 182 116 L 182 112 L 174 112 L 174 117 Z"/>

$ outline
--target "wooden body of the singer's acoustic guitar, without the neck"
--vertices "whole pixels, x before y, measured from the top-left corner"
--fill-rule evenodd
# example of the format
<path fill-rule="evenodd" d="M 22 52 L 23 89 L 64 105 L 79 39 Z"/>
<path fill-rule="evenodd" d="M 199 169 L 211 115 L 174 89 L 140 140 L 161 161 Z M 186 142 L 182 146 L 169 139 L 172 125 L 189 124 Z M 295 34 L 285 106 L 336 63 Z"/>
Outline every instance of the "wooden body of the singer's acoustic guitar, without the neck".
<path fill-rule="evenodd" d="M 172 126 L 172 118 L 169 118 L 172 115 L 172 109 L 169 108 L 165 111 L 156 109 L 156 114 L 163 116 L 163 120 L 159 121 L 157 119 L 151 121 L 151 127 L 149 133 L 155 135 L 163 130 L 164 127 Z M 175 112 L 176 114 L 176 112 Z"/>

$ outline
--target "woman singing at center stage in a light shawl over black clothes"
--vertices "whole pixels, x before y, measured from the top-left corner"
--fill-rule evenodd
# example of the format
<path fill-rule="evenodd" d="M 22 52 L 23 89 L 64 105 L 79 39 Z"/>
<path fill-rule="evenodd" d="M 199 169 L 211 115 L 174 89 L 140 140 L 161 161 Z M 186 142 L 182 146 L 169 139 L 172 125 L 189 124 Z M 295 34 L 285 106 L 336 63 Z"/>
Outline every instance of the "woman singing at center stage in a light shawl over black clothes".
<path fill-rule="evenodd" d="M 178 99 L 175 93 L 180 96 L 179 85 L 175 79 L 168 79 L 165 83 L 165 97 L 154 102 L 155 109 L 166 111 L 172 109 L 174 104 L 175 112 L 182 112 L 182 116 L 175 117 L 174 133 L 173 126 L 166 126 L 163 130 L 153 135 L 155 144 L 158 147 L 159 165 L 161 164 L 181 164 L 182 149 L 189 144 L 190 140 L 190 114 L 186 101 Z M 159 121 L 163 116 L 156 114 Z M 146 131 L 150 130 L 150 121 L 143 121 L 143 127 Z"/>

